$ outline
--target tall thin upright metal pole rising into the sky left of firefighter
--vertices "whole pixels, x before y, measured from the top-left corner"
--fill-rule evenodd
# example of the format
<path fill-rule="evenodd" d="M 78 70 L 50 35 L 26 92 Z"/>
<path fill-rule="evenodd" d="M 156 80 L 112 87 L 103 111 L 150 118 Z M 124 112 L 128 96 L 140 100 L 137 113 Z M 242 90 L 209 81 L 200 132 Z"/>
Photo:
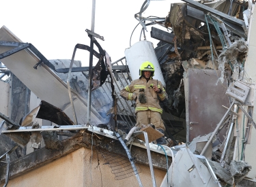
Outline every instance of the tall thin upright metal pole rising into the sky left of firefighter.
<path fill-rule="evenodd" d="M 91 6 L 91 31 L 94 32 L 96 0 L 92 0 Z M 90 35 L 90 55 L 89 55 L 89 84 L 88 84 L 88 99 L 87 99 L 87 125 L 91 124 L 91 76 L 92 76 L 92 61 L 94 55 L 94 36 Z"/>

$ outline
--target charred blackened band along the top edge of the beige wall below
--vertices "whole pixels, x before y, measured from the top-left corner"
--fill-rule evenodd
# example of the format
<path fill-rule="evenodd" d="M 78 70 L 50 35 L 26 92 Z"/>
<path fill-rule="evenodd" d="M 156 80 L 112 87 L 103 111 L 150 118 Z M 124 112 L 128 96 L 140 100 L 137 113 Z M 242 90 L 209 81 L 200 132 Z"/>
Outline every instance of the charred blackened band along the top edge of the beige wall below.
<path fill-rule="evenodd" d="M 27 171 L 31 171 L 32 169 L 41 167 L 46 163 L 50 163 L 53 160 L 56 160 L 57 158 L 60 158 L 62 156 L 69 154 L 70 152 L 78 150 L 79 148 L 85 147 L 91 149 L 92 139 L 94 142 L 94 148 L 102 148 L 106 150 L 106 152 L 108 152 L 113 146 L 113 139 L 109 137 L 95 134 L 92 135 L 91 132 L 81 131 L 80 133 L 77 133 L 73 137 L 61 141 L 60 150 L 48 150 L 46 148 L 41 148 L 35 152 L 32 152 L 31 154 L 27 154 L 23 158 L 13 161 L 10 165 L 10 179 L 18 175 L 22 175 Z M 119 150 L 116 153 L 124 155 L 122 150 Z M 148 165 L 147 151 L 145 149 L 133 146 L 131 153 L 134 157 L 136 157 L 138 163 Z M 154 167 L 166 170 L 165 155 L 152 152 L 152 163 Z M 169 158 L 169 163 L 171 163 L 171 158 Z M 0 168 L 0 173 L 0 181 L 5 180 L 5 166 Z"/>

